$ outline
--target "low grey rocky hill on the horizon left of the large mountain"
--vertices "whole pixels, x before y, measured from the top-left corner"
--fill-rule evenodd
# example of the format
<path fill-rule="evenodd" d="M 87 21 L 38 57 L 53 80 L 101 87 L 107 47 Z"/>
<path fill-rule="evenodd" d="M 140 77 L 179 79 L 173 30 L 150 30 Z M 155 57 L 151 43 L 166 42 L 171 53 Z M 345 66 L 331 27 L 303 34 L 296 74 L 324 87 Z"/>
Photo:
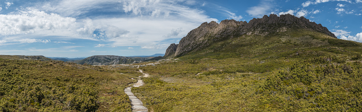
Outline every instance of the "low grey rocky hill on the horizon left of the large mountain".
<path fill-rule="evenodd" d="M 130 57 L 125 56 L 90 56 L 81 60 L 78 64 L 89 64 L 89 65 L 115 65 L 115 64 L 129 64 L 133 63 L 134 60 Z"/>

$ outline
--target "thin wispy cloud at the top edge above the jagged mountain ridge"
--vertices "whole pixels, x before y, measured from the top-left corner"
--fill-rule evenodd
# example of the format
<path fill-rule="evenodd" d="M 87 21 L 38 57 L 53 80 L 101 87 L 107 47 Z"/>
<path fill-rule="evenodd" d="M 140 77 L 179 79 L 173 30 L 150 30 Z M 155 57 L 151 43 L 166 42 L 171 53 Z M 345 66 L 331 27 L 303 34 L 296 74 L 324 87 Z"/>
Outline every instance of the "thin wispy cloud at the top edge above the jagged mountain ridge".
<path fill-rule="evenodd" d="M 253 17 L 262 17 L 272 8 L 272 4 L 270 3 L 273 0 L 262 0 L 258 6 L 250 7 L 247 10 L 247 14 Z"/>

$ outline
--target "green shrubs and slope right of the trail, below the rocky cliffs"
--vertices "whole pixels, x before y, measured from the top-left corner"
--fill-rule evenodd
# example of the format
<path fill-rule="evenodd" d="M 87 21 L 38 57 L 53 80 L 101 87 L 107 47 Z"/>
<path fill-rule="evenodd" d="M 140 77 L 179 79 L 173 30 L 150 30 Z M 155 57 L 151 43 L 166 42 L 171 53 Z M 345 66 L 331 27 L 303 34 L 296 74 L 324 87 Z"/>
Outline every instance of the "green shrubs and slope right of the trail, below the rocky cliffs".
<path fill-rule="evenodd" d="M 359 112 L 361 46 L 308 30 L 243 35 L 140 68 L 152 77 L 132 91 L 154 112 Z"/>

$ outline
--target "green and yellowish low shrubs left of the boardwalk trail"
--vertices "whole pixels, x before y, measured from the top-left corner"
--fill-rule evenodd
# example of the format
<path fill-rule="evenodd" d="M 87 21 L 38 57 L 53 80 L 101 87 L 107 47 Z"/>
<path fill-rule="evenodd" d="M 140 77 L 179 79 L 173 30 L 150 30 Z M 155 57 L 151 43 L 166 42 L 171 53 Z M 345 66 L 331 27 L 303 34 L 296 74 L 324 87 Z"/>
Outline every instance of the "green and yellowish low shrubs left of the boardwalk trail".
<path fill-rule="evenodd" d="M 131 112 L 123 89 L 139 75 L 63 61 L 0 58 L 0 111 Z"/>

